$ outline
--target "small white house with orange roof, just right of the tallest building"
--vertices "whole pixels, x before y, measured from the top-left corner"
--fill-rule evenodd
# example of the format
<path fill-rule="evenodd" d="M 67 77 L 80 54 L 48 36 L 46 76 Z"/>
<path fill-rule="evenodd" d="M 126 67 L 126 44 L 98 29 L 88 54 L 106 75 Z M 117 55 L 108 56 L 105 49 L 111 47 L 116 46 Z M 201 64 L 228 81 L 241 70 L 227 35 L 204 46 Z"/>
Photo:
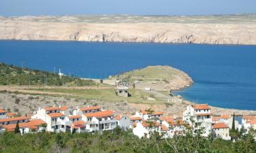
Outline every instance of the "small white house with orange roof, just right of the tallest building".
<path fill-rule="evenodd" d="M 218 137 L 225 140 L 230 140 L 229 136 L 229 126 L 224 122 L 218 122 L 212 126 L 214 137 Z"/>

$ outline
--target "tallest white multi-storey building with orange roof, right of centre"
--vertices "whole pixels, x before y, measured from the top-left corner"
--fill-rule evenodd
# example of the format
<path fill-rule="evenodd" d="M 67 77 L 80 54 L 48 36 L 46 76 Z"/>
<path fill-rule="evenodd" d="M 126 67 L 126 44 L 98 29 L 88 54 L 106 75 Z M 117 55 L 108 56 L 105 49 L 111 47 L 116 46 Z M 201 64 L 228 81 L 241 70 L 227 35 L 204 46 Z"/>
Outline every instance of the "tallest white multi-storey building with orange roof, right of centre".
<path fill-rule="evenodd" d="M 212 133 L 211 108 L 207 104 L 188 105 L 183 120 L 193 126 L 195 132 L 201 129 L 204 137 Z"/>

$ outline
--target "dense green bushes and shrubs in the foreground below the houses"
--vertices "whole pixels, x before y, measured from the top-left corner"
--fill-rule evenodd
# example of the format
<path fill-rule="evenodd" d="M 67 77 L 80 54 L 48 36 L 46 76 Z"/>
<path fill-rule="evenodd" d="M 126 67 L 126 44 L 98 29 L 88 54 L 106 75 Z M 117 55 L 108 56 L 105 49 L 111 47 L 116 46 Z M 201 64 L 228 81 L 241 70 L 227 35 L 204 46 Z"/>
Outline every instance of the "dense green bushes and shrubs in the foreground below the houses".
<path fill-rule="evenodd" d="M 254 131 L 255 132 L 255 131 Z M 157 133 L 150 139 L 132 135 L 130 131 L 114 129 L 113 133 L 33 133 L 19 135 L 2 133 L 0 135 L 0 152 L 244 152 L 255 153 L 256 143 L 253 134 L 244 135 L 242 139 L 231 142 L 221 139 L 203 138 L 186 133 L 173 139 L 162 139 Z"/>

